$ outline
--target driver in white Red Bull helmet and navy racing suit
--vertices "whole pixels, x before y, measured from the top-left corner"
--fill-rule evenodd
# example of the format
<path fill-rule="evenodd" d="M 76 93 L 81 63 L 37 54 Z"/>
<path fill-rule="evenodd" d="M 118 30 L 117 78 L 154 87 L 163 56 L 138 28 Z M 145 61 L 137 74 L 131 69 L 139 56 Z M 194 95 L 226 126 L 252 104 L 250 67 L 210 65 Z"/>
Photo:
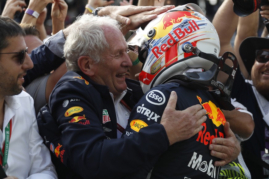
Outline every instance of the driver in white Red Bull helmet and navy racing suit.
<path fill-rule="evenodd" d="M 152 168 L 151 179 L 218 178 L 221 167 L 214 162 L 219 158 L 210 155 L 208 146 L 214 137 L 225 137 L 222 109 L 234 109 L 230 103 L 237 70 L 234 54 L 218 58 L 218 34 L 200 7 L 191 3 L 158 15 L 127 43 L 143 62 L 139 81 L 145 95 L 133 108 L 123 137 L 160 123 L 172 91 L 177 94 L 177 110 L 201 104 L 207 111 L 198 134 L 169 146 L 128 178 L 146 178 Z"/>

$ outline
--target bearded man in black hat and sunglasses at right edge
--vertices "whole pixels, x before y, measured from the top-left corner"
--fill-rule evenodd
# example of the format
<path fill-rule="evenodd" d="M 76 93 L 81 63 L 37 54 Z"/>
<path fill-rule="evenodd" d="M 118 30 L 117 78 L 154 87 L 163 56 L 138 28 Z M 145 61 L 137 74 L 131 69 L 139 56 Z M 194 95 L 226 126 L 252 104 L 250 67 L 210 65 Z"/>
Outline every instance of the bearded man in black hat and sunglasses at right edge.
<path fill-rule="evenodd" d="M 268 170 L 263 169 L 266 165 L 263 160 L 269 156 L 269 39 L 246 38 L 239 47 L 239 54 L 251 80 L 244 81 L 243 76 L 238 75 L 232 97 L 247 107 L 255 122 L 253 135 L 242 143 L 242 153 L 251 175 L 264 178 L 268 177 Z"/>

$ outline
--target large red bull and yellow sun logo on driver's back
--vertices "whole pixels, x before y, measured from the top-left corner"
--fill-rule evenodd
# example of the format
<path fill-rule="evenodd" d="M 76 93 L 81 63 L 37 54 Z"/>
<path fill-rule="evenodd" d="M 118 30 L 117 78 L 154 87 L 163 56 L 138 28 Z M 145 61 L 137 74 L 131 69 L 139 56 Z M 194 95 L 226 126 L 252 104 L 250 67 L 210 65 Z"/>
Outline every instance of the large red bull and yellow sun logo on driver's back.
<path fill-rule="evenodd" d="M 221 124 L 224 125 L 226 119 L 221 109 L 219 109 L 212 101 L 202 103 L 201 97 L 197 96 L 200 104 L 206 109 L 206 114 L 210 119 L 212 119 L 213 123 L 218 127 Z"/>

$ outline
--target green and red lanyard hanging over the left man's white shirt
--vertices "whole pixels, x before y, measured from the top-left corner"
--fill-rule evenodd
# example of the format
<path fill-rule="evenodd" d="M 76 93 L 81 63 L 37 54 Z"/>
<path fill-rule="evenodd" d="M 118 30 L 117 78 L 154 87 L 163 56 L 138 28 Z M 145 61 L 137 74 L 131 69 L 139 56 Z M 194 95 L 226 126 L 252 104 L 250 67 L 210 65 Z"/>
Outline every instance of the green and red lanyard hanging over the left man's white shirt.
<path fill-rule="evenodd" d="M 6 125 L 4 147 L 2 148 L 2 150 L 0 150 L 0 152 L 1 152 L 0 164 L 2 165 L 3 169 L 5 169 L 6 163 L 7 163 L 9 141 L 10 141 L 10 137 L 11 137 L 11 127 L 12 127 L 12 119 L 10 119 L 9 123 Z"/>

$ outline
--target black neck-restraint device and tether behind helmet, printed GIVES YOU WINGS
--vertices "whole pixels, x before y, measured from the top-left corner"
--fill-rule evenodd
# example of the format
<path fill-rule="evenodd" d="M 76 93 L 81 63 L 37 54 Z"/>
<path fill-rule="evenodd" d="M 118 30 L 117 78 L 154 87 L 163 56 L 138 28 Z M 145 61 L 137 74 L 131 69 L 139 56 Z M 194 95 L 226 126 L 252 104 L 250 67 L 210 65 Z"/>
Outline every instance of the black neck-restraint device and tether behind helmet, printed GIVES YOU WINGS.
<path fill-rule="evenodd" d="M 207 87 L 207 89 L 209 86 L 211 86 L 214 89 L 212 90 L 212 92 L 214 92 L 217 96 L 219 96 L 221 100 L 230 101 L 231 89 L 233 86 L 234 77 L 238 66 L 237 58 L 235 57 L 235 55 L 232 54 L 231 52 L 225 52 L 222 55 L 222 57 L 217 58 L 212 54 L 202 52 L 197 47 L 191 46 L 191 44 L 188 42 L 182 46 L 182 50 L 185 51 L 186 53 L 192 52 L 196 54 L 198 57 L 214 62 L 214 64 L 213 66 L 211 66 L 209 70 L 205 72 L 195 71 L 195 72 L 185 72 L 182 74 L 177 74 L 165 80 L 164 83 L 178 79 L 184 82 L 195 82 L 194 84 L 198 83 L 199 86 L 201 85 L 205 86 Z M 226 59 L 230 59 L 233 62 L 232 67 L 225 64 Z M 224 73 L 229 75 L 225 84 L 222 84 L 222 82 L 217 81 L 218 73 L 220 71 L 223 71 Z M 232 110 L 232 107 L 230 107 L 229 105 L 224 105 L 223 107 L 224 107 L 223 109 Z"/>

